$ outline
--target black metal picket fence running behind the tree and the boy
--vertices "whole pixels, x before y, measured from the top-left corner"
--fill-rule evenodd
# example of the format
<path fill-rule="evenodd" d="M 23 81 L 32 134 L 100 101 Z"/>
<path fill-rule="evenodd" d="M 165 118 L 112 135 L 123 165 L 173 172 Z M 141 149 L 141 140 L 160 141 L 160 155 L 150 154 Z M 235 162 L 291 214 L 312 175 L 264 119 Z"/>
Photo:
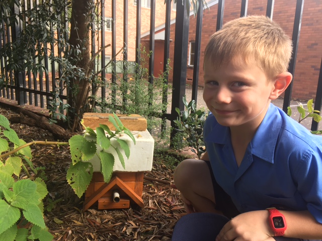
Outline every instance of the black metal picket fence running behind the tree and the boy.
<path fill-rule="evenodd" d="M 202 6 L 202 0 L 200 1 L 200 6 Z M 28 7 L 32 6 L 33 1 L 26 0 L 25 6 Z M 101 5 L 101 13 L 102 13 L 102 19 L 104 19 L 104 1 L 102 1 Z M 39 4 L 38 0 L 36 1 L 36 4 Z M 117 0 L 112 0 L 112 19 L 114 21 L 111 22 L 111 29 L 112 29 L 112 39 L 111 39 L 111 48 L 112 48 L 112 58 L 114 58 L 117 54 L 116 51 L 116 7 L 117 7 Z M 123 8 L 123 42 L 124 42 L 124 49 L 126 49 L 126 46 L 128 45 L 128 0 L 124 0 L 124 8 Z M 139 46 L 141 44 L 141 1 L 136 2 L 136 63 L 140 64 L 140 50 Z M 186 92 L 186 79 L 187 79 L 187 57 L 188 57 L 188 36 L 189 36 L 189 16 L 186 11 L 186 1 L 183 1 L 183 4 L 177 4 L 177 12 L 176 12 L 176 29 L 175 29 L 175 48 L 174 48 L 174 66 L 173 66 L 173 92 L 172 92 L 172 106 L 171 106 L 171 112 L 168 113 L 166 110 L 161 114 L 164 118 L 169 119 L 172 121 L 172 126 L 174 125 L 174 119 L 177 117 L 177 112 L 175 111 L 176 107 L 179 107 L 179 109 L 183 110 L 184 105 L 182 102 L 182 98 L 185 95 Z M 217 12 L 217 26 L 216 30 L 219 30 L 223 23 L 223 14 L 224 14 L 224 0 L 218 0 L 218 12 Z M 294 18 L 294 25 L 293 25 L 293 34 L 292 34 L 292 41 L 294 46 L 293 56 L 292 56 L 292 62 L 289 65 L 289 72 L 294 74 L 295 70 L 295 63 L 296 63 L 296 54 L 297 54 L 297 46 L 298 46 L 298 40 L 300 35 L 300 27 L 301 27 L 301 19 L 302 19 L 302 13 L 303 13 L 303 5 L 304 0 L 297 0 L 296 1 L 296 11 L 295 11 L 295 18 Z M 268 0 L 267 1 L 267 11 L 266 15 L 271 17 L 273 13 L 274 8 L 274 0 Z M 240 9 L 240 16 L 246 16 L 248 10 L 248 0 L 241 0 L 241 9 Z M 13 14 L 18 14 L 21 11 L 19 8 L 15 8 Z M 153 82 L 153 73 L 154 73 L 154 35 L 155 35 L 155 24 L 154 24 L 154 16 L 155 16 L 155 0 L 151 0 L 150 3 L 150 38 L 149 38 L 149 50 L 152 52 L 151 57 L 149 58 L 149 76 L 151 78 L 149 79 L 150 82 Z M 193 69 L 193 84 L 192 84 L 192 99 L 197 100 L 197 88 L 198 88 L 198 71 L 200 66 L 199 56 L 200 56 L 200 42 L 201 42 L 201 29 L 202 29 L 202 19 L 203 19 L 203 11 L 201 8 L 199 8 L 198 13 L 196 15 L 197 24 L 196 24 L 196 39 L 195 39 L 195 59 L 194 59 L 194 69 Z M 164 71 L 166 70 L 166 64 L 167 60 L 170 56 L 170 25 L 171 25 L 171 2 L 168 1 L 166 4 L 166 13 L 165 13 L 165 51 L 164 51 Z M 5 23 L 2 23 L 2 26 L 5 26 Z M 0 36 L 1 45 L 0 48 L 4 44 L 10 41 L 15 41 L 15 38 L 17 35 L 20 34 L 21 28 L 23 28 L 23 24 L 21 22 L 18 22 L 15 26 L 12 28 L 8 28 L 7 34 Z M 105 43 L 105 34 L 104 34 L 104 28 L 102 28 L 101 33 L 101 43 Z M 53 48 L 53 46 L 51 46 Z M 95 53 L 95 36 L 92 35 L 92 53 Z M 123 52 L 123 60 L 127 61 L 127 51 Z M 51 69 L 51 76 L 55 75 L 55 72 L 57 71 L 57 68 L 59 70 L 59 66 L 51 62 L 51 64 L 48 62 L 48 58 L 45 58 L 45 66 L 47 68 Z M 101 64 L 102 66 L 105 66 L 106 64 L 106 58 L 104 51 L 102 52 L 101 56 Z M 52 93 L 50 91 L 54 90 L 57 86 L 55 81 L 53 81 L 53 78 L 51 78 L 48 74 L 44 76 L 33 76 L 32 73 L 27 72 L 19 72 L 19 73 L 13 73 L 13 72 L 7 72 L 6 68 L 6 60 L 4 57 L 0 58 L 0 64 L 1 64 L 1 72 L 5 75 L 6 82 L 8 85 L 5 89 L 2 90 L 1 95 L 5 98 L 9 99 L 15 99 L 18 101 L 18 104 L 24 105 L 24 104 L 32 104 L 35 106 L 40 106 L 42 108 L 46 108 L 48 106 L 48 99 L 52 96 Z M 111 81 L 116 81 L 116 75 L 113 74 L 116 72 L 116 65 L 113 65 L 114 71 L 112 71 L 111 74 Z M 318 78 L 318 85 L 316 90 L 316 98 L 314 100 L 314 108 L 317 110 L 321 109 L 322 105 L 322 63 L 321 68 L 319 72 L 319 78 Z M 56 70 L 56 71 L 55 71 Z M 103 71 L 101 73 L 101 78 L 103 81 L 106 81 L 106 73 Z M 37 79 L 38 78 L 38 79 Z M 39 83 L 39 84 L 37 84 Z M 62 86 L 60 86 L 62 87 Z M 60 97 L 62 99 L 66 99 L 66 92 L 63 92 L 63 88 L 60 88 Z M 106 89 L 103 87 L 101 89 L 101 97 L 106 97 Z M 291 93 L 292 93 L 292 83 L 287 88 L 285 96 L 284 96 L 284 104 L 283 109 L 284 111 L 287 111 L 287 106 L 290 105 L 291 100 Z M 168 99 L 168 91 L 163 92 L 163 102 L 167 103 Z M 314 121 L 312 121 L 311 130 L 315 131 L 318 128 L 318 124 Z"/>

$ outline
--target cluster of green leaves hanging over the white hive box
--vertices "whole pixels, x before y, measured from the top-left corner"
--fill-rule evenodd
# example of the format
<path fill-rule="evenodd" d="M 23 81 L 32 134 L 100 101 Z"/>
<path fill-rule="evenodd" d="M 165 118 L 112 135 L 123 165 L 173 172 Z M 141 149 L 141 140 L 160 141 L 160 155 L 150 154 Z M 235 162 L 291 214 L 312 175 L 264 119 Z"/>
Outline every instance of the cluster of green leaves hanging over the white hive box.
<path fill-rule="evenodd" d="M 117 157 L 125 168 L 124 157 L 120 150 L 124 150 L 125 156 L 129 158 L 130 149 L 128 143 L 120 139 L 122 135 L 127 135 L 135 144 L 132 133 L 123 126 L 115 113 L 109 116 L 109 121 L 113 124 L 116 131 L 112 132 L 108 126 L 100 125 L 94 132 L 93 129 L 85 127 L 82 136 L 76 135 L 69 139 L 72 165 L 67 171 L 67 182 L 73 188 L 78 197 L 81 197 L 90 184 L 93 176 L 93 165 L 88 161 L 97 155 L 101 161 L 102 174 L 105 182 L 109 182 L 113 173 L 115 157 L 109 149 L 115 150 Z M 89 138 L 90 137 L 90 138 Z M 113 146 L 111 140 L 115 139 L 118 146 Z M 102 151 L 97 153 L 97 146 Z"/>

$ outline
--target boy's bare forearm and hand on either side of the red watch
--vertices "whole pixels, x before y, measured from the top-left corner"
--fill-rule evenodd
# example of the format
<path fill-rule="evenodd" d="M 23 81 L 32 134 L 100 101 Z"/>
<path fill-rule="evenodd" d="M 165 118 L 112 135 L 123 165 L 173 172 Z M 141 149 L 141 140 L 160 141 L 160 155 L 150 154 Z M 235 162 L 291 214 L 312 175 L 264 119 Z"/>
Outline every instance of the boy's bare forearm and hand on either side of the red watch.
<path fill-rule="evenodd" d="M 309 211 L 280 211 L 287 223 L 285 237 L 322 239 L 322 224 Z M 220 231 L 216 241 L 240 240 L 263 241 L 274 235 L 267 210 L 252 211 L 232 218 Z"/>

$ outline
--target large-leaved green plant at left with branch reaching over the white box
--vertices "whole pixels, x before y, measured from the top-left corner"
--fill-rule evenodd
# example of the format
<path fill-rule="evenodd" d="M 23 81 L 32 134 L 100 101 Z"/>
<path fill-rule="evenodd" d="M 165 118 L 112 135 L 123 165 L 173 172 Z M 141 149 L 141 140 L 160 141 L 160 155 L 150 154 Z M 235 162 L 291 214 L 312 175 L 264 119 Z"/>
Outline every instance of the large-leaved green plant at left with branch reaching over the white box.
<path fill-rule="evenodd" d="M 31 149 L 34 144 L 68 145 L 70 146 L 71 165 L 66 179 L 78 197 L 86 191 L 93 176 L 92 164 L 89 162 L 94 155 L 101 160 L 104 181 L 109 182 L 113 173 L 115 157 L 108 152 L 113 148 L 125 168 L 124 150 L 127 158 L 130 149 L 126 141 L 120 139 L 128 135 L 135 144 L 132 133 L 123 126 L 116 114 L 109 117 L 116 131 L 108 126 L 100 125 L 93 129 L 85 127 L 83 136 L 75 135 L 69 142 L 33 141 L 26 143 L 19 139 L 17 133 L 10 128 L 8 119 L 0 115 L 0 240 L 52 240 L 43 218 L 44 209 L 50 210 L 55 203 L 47 208 L 43 199 L 48 194 L 42 167 L 35 168 L 32 164 Z M 91 140 L 86 139 L 89 135 Z M 115 139 L 118 146 L 113 146 Z M 96 153 L 97 145 L 102 148 Z M 24 175 L 25 174 L 25 175 Z"/>

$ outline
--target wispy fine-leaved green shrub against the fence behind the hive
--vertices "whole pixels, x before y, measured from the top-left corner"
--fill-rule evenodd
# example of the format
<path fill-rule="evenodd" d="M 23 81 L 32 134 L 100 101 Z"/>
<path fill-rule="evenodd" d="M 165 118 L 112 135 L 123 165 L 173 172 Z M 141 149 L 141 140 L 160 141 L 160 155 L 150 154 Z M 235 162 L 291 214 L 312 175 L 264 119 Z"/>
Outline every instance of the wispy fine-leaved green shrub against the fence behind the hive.
<path fill-rule="evenodd" d="M 148 58 L 150 53 L 146 53 L 145 48 L 142 48 L 140 64 L 123 61 L 126 68 L 122 68 L 122 73 L 115 73 L 116 83 L 109 83 L 106 86 L 110 89 L 109 98 L 105 100 L 91 96 L 91 99 L 95 100 L 91 111 L 139 114 L 146 118 L 148 130 L 159 126 L 159 119 L 153 116 L 161 115 L 162 111 L 167 109 L 167 104 L 163 103 L 163 93 L 168 88 L 170 62 L 168 61 L 165 72 L 157 77 L 150 77 L 145 67 Z M 150 81 L 151 78 L 153 81 Z"/>

